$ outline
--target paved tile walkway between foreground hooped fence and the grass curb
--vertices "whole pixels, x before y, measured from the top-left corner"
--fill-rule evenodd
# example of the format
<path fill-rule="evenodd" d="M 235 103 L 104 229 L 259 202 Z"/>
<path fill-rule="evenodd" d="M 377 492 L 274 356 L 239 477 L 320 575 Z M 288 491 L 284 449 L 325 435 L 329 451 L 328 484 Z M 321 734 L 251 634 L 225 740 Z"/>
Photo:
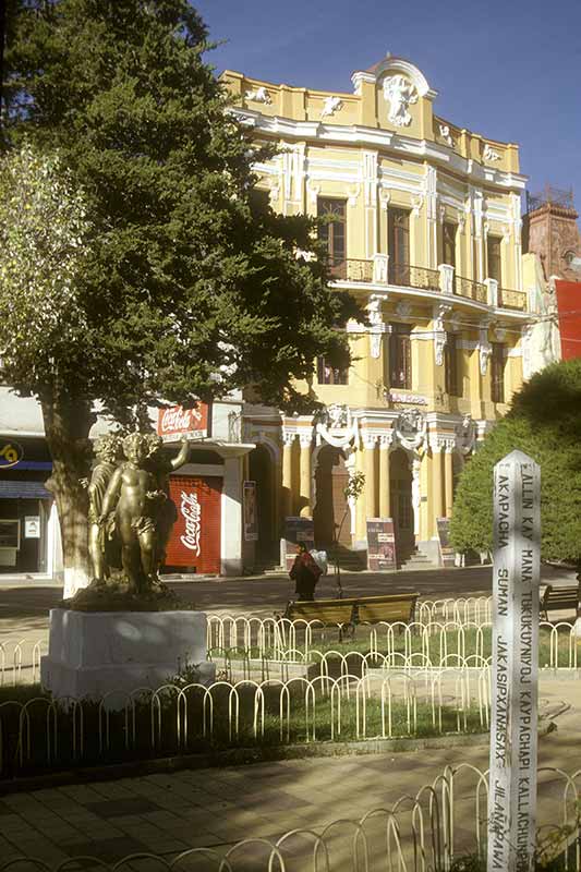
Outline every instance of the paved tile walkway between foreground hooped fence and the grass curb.
<path fill-rule="evenodd" d="M 542 697 L 543 707 L 568 700 L 570 708 L 558 716 L 557 730 L 541 739 L 540 766 L 572 773 L 581 768 L 581 681 L 543 680 Z M 144 775 L 12 794 L 0 800 L 0 861 L 26 856 L 56 864 L 89 855 L 112 862 L 141 851 L 170 859 L 202 846 L 222 853 L 243 838 L 275 839 L 292 828 L 319 831 L 339 818 L 360 819 L 403 795 L 414 796 L 447 764 L 470 762 L 486 768 L 487 761 L 486 747 L 431 749 Z M 542 820 L 557 822 L 558 777 L 543 777 Z M 458 834 L 464 833 L 468 844 L 474 832 L 474 808 L 470 801 L 460 802 L 457 813 Z"/>

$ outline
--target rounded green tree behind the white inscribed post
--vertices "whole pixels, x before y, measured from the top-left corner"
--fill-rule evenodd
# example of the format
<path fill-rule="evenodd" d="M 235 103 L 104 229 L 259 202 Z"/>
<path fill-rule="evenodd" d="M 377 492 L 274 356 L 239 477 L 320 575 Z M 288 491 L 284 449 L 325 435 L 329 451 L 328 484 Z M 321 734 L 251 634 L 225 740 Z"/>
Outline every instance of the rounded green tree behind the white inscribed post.
<path fill-rule="evenodd" d="M 541 465 L 542 556 L 581 562 L 581 360 L 547 366 L 467 463 L 450 540 L 458 550 L 493 547 L 493 470 L 520 448 Z"/>

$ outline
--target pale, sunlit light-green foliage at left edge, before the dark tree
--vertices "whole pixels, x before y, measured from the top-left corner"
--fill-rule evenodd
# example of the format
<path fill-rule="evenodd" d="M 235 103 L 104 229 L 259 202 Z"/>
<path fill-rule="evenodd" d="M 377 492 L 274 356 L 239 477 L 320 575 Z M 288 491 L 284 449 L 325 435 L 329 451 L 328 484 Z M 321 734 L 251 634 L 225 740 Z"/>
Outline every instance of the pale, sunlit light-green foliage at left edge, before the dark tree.
<path fill-rule="evenodd" d="M 58 156 L 25 143 L 0 161 L 2 362 L 23 392 L 43 396 L 55 361 L 83 349 L 78 278 L 89 231 L 82 192 Z"/>

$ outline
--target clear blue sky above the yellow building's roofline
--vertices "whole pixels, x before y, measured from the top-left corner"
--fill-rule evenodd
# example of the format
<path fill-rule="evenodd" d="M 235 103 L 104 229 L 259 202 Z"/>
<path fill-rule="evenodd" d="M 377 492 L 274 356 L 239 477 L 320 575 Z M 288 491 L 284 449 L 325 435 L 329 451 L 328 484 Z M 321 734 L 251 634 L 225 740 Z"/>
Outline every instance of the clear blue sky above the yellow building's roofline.
<path fill-rule="evenodd" d="M 352 90 L 387 51 L 407 58 L 455 124 L 520 145 L 533 193 L 581 210 L 581 0 L 193 0 L 218 71 Z"/>

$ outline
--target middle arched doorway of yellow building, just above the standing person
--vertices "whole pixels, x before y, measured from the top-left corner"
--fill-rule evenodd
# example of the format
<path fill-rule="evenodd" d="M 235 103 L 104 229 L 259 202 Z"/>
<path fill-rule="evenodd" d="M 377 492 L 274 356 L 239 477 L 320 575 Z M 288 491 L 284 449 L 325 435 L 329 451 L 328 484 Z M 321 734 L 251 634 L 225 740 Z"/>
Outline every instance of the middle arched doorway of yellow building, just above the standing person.
<path fill-rule="evenodd" d="M 315 543 L 326 550 L 336 536 L 340 545 L 351 547 L 351 513 L 344 495 L 349 482 L 346 460 L 343 449 L 332 445 L 324 445 L 317 453 L 313 521 Z"/>

